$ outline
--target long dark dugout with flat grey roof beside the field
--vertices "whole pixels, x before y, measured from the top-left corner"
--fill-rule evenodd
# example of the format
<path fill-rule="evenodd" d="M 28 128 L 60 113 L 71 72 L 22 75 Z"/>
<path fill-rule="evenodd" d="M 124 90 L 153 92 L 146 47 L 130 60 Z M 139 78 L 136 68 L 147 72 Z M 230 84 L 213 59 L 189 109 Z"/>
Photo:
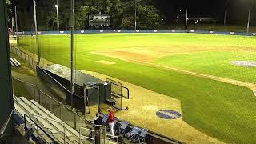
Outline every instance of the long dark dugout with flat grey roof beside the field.
<path fill-rule="evenodd" d="M 62 94 L 55 94 L 63 103 L 71 106 L 70 94 L 70 68 L 59 64 L 38 68 L 38 75 L 43 82 L 50 84 L 51 91 L 56 91 L 53 79 L 62 86 Z M 48 80 L 47 80 L 48 79 Z M 84 89 L 85 88 L 85 89 Z M 69 91 L 67 91 L 69 90 Z M 59 89 L 58 89 L 59 91 Z M 78 70 L 74 72 L 74 107 L 84 113 L 85 106 L 102 104 L 111 99 L 111 84 L 100 80 L 89 74 L 84 74 Z M 85 105 L 86 103 L 86 105 Z"/>

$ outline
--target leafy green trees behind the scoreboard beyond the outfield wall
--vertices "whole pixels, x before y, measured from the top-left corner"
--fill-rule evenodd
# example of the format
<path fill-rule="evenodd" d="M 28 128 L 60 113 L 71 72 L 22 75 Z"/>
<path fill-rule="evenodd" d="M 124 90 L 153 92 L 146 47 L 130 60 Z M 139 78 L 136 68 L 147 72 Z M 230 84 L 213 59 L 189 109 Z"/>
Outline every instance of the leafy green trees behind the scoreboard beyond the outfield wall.
<path fill-rule="evenodd" d="M 44 11 L 41 25 L 56 26 L 56 0 L 44 2 L 38 10 Z M 165 16 L 153 6 L 151 0 L 137 0 L 138 29 L 157 29 L 162 26 Z M 74 3 L 74 25 L 76 30 L 87 30 L 90 14 L 106 14 L 111 16 L 111 29 L 134 29 L 134 0 L 78 0 Z M 58 18 L 60 30 L 69 28 L 70 2 L 58 0 Z"/>

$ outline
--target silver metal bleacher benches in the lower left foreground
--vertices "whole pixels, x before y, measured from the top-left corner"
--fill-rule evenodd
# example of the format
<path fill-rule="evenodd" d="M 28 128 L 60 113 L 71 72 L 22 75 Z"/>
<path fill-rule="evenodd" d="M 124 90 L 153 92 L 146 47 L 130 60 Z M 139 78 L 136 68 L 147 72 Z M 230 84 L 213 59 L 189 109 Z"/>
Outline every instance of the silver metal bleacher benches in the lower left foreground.
<path fill-rule="evenodd" d="M 79 143 L 78 131 L 65 124 L 65 122 L 62 122 L 59 118 L 39 105 L 38 102 L 34 100 L 29 101 L 24 97 L 16 97 L 14 98 L 14 107 L 22 116 L 26 114 L 30 116 L 30 118 L 33 118 L 39 126 L 45 129 L 50 137 L 56 140 L 56 142 Z M 26 122 L 30 122 L 30 119 L 26 118 Z M 50 138 L 47 138 L 45 134 L 39 133 L 39 135 L 46 143 L 52 143 Z M 90 142 L 88 141 L 86 143 Z"/>

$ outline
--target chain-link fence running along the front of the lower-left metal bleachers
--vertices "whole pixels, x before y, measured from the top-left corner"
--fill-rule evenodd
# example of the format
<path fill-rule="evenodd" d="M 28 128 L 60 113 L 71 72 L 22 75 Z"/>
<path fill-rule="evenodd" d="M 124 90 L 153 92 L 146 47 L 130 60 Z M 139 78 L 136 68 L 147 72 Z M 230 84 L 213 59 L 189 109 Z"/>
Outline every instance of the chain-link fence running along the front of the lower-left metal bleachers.
<path fill-rule="evenodd" d="M 79 131 L 80 127 L 86 127 L 93 129 L 94 123 L 88 121 L 82 115 L 76 113 L 70 107 L 65 106 L 61 102 L 58 102 L 55 98 L 51 97 L 49 94 L 46 94 L 42 90 L 39 90 L 39 87 L 33 85 L 29 82 L 24 82 L 18 78 L 13 78 L 14 83 L 14 95 L 23 96 L 27 99 L 34 99 L 40 105 L 42 105 L 46 110 L 49 110 L 50 113 L 54 114 L 56 117 L 61 119 L 63 122 L 66 122 L 69 126 Z M 21 90 L 22 88 L 22 90 Z"/>

